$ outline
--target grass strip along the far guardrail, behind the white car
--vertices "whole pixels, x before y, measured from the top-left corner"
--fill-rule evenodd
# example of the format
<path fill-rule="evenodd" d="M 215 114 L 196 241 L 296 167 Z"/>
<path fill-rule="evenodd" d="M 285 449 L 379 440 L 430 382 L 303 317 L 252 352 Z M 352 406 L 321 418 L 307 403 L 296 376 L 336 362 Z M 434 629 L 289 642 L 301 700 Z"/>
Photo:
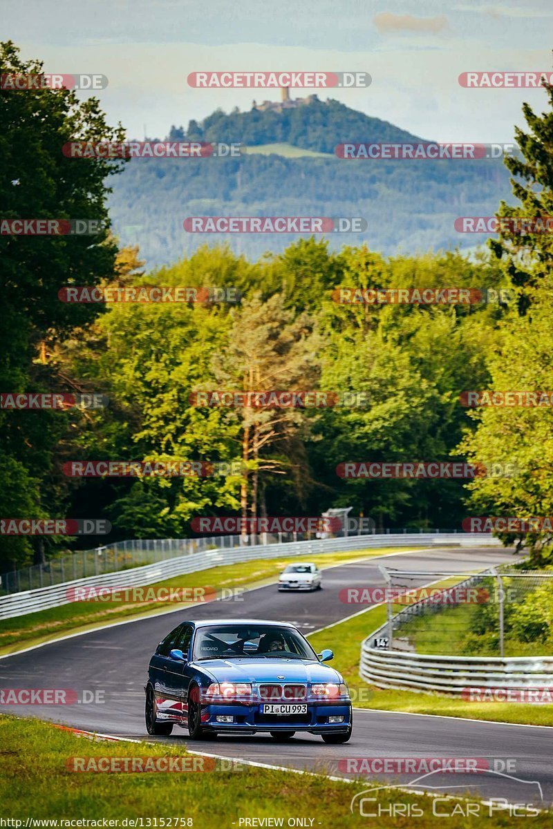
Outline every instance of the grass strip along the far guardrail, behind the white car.
<path fill-rule="evenodd" d="M 349 550 L 340 553 L 323 553 L 323 555 L 303 555 L 294 557 L 294 562 L 314 561 L 319 567 L 336 565 L 346 561 L 363 560 L 390 552 L 407 552 L 401 547 L 381 550 Z M 277 579 L 279 572 L 289 563 L 289 559 L 255 559 L 239 564 L 212 567 L 187 575 L 173 576 L 172 579 L 149 584 L 148 589 L 191 588 L 211 586 L 216 589 L 235 587 L 254 587 L 270 584 Z M 186 603 L 142 602 L 121 604 L 121 602 L 87 601 L 62 604 L 59 608 L 26 613 L 24 616 L 2 619 L 0 621 L 0 655 L 16 652 L 23 647 L 48 642 L 64 633 L 84 633 L 104 624 L 123 621 L 126 618 L 148 616 L 153 613 L 167 612 L 167 609 L 185 608 Z M 17 646 L 17 647 L 14 647 Z"/>

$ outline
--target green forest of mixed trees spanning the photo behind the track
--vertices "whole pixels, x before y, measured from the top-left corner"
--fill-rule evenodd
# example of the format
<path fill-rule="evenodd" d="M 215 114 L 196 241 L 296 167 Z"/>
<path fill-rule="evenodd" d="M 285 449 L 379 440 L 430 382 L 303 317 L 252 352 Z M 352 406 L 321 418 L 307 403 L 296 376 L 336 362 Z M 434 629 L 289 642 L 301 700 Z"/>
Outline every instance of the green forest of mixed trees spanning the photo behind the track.
<path fill-rule="evenodd" d="M 11 43 L 2 44 L 2 65 L 40 68 L 24 63 Z M 551 87 L 547 95 L 546 113 L 524 109 L 520 157 L 505 159 L 512 204 L 496 199 L 497 216 L 552 215 Z M 32 143 L 18 141 L 37 112 Z M 336 250 L 316 237 L 258 259 L 228 245 L 200 245 L 147 269 L 142 248 L 123 245 L 109 228 L 109 187 L 133 161 L 76 163 L 54 151 L 70 138 L 122 140 L 97 101 L 36 90 L 8 96 L 0 119 L 7 218 L 28 216 L 32 203 L 37 217 L 103 220 L 94 236 L 0 236 L 2 390 L 108 401 L 96 409 L 0 410 L 2 516 L 107 517 L 108 541 L 117 541 L 191 536 L 195 516 L 317 516 L 329 507 L 352 507 L 379 529 L 460 529 L 466 516 L 552 514 L 551 408 L 462 403 L 468 390 L 553 389 L 550 235 L 521 235 L 519 225 L 509 230 L 506 223 L 473 256 L 384 255 L 362 243 Z M 293 191 L 282 170 L 271 174 Z M 389 215 L 386 202 L 374 201 Z M 201 301 L 61 301 L 62 289 L 83 285 L 186 286 Z M 468 288 L 489 301 L 340 303 L 341 288 Z M 196 405 L 194 395 L 206 390 L 323 390 L 364 402 Z M 231 473 L 66 474 L 68 463 L 104 459 L 226 464 Z M 472 480 L 337 473 L 347 462 L 431 461 L 512 464 L 515 471 Z M 529 541 L 536 560 L 549 555 L 548 536 Z M 0 571 L 57 555 L 67 544 L 56 536 L 0 536 Z"/>

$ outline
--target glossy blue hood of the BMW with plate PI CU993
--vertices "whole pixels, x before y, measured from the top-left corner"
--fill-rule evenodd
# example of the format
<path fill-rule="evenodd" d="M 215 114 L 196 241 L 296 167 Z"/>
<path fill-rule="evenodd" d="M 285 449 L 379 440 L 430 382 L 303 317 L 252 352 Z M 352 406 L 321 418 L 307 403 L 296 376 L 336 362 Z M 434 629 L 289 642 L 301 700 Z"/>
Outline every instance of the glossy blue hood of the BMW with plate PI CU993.
<path fill-rule="evenodd" d="M 308 659 L 210 659 L 194 664 L 215 682 L 343 681 L 334 668 Z M 284 676 L 284 680 L 279 676 Z"/>

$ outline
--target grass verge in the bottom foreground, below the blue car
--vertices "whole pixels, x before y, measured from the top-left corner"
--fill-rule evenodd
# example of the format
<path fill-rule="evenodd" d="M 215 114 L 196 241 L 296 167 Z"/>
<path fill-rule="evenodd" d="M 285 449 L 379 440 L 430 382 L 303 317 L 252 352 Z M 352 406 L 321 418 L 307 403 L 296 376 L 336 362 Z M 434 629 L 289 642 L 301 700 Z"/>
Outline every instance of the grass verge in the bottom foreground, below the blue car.
<path fill-rule="evenodd" d="M 177 744 L 93 743 L 38 720 L 0 716 L 0 744 L 2 816 L 22 821 L 20 826 L 25 826 L 27 817 L 57 820 L 58 827 L 64 826 L 61 819 L 99 821 L 96 825 L 100 827 L 103 819 L 114 820 L 118 823 L 112 826 L 122 827 L 129 826 L 128 822 L 122 823 L 125 818 L 143 818 L 143 827 L 231 829 L 245 826 L 246 818 L 258 819 L 250 822 L 250 826 L 285 827 L 290 817 L 302 817 L 305 823 L 300 825 L 323 829 L 356 827 L 360 823 L 388 829 L 392 822 L 389 810 L 395 802 L 411 806 L 416 803 L 423 808 L 423 817 L 417 817 L 416 821 L 421 829 L 437 827 L 444 820 L 433 815 L 431 797 L 385 788 L 376 797 L 379 807 L 388 811 L 382 817 L 371 818 L 369 824 L 358 811 L 350 812 L 352 796 L 367 788 L 365 781 L 342 783 L 322 775 L 244 765 L 235 765 L 234 770 L 223 767 L 205 773 L 75 773 L 70 770 L 74 758 L 94 758 L 96 765 L 100 757 L 117 758 L 119 764 L 122 759 L 129 763 L 130 759 L 139 758 L 143 763 L 148 758 L 153 764 L 156 758 L 186 758 L 187 755 Z M 200 758 L 192 759 L 191 755 L 188 758 L 196 762 L 196 768 L 201 764 Z M 209 760 L 204 762 L 209 768 Z M 374 809 L 376 804 L 371 803 L 371 807 Z M 512 826 L 508 812 L 496 812 L 488 817 L 489 807 L 483 805 L 482 814 L 465 817 L 465 804 L 458 797 L 447 803 L 441 801 L 438 811 L 443 813 L 445 808 L 451 812 L 449 829 L 482 827 L 483 818 L 484 826 L 489 829 Z M 170 817 L 172 822 L 168 821 Z M 273 822 L 265 824 L 263 818 L 273 818 Z M 282 823 L 274 823 L 274 818 L 280 818 Z M 399 817 L 395 823 L 407 827 L 410 818 Z M 17 824 L 11 825 L 17 827 Z M 532 826 L 551 827 L 551 813 L 534 817 Z"/>

